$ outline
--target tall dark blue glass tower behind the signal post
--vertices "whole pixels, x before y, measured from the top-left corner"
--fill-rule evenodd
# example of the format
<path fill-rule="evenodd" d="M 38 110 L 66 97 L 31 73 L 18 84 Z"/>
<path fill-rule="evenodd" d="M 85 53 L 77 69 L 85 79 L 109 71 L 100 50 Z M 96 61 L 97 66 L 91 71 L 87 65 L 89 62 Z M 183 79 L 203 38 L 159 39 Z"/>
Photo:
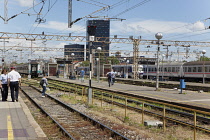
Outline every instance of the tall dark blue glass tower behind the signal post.
<path fill-rule="evenodd" d="M 87 26 L 97 26 L 95 37 L 109 37 L 110 35 L 110 21 L 109 20 L 88 20 Z M 89 40 L 89 35 L 87 34 L 87 40 Z M 107 40 L 109 41 L 109 39 Z M 87 42 L 87 50 L 89 50 L 90 42 Z M 105 56 L 109 56 L 109 44 L 101 42 L 93 42 L 92 49 L 97 49 L 97 47 L 102 48 L 102 52 L 105 52 Z M 89 52 L 86 53 L 87 59 Z M 98 56 L 96 53 L 95 56 Z"/>

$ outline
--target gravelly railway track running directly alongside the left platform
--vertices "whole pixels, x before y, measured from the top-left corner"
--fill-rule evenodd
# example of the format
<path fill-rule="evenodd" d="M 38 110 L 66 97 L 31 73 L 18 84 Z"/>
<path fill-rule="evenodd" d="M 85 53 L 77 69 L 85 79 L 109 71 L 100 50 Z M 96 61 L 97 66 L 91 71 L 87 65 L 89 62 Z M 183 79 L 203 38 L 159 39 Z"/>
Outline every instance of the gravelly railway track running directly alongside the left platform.
<path fill-rule="evenodd" d="M 71 108 L 69 105 L 47 96 L 41 97 L 37 89 L 29 86 L 21 87 L 24 94 L 59 126 L 66 137 L 76 140 L 127 140 L 128 138 L 104 124 Z"/>

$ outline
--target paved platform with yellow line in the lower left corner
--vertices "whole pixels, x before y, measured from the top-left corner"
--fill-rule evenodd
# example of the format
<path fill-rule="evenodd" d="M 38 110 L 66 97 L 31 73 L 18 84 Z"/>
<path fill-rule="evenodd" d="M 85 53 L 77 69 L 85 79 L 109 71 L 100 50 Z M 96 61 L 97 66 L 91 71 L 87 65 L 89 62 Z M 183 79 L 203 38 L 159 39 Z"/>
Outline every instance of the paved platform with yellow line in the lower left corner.
<path fill-rule="evenodd" d="M 18 102 L 12 102 L 9 94 L 7 100 L 3 102 L 0 97 L 0 140 L 46 139 L 21 97 Z"/>

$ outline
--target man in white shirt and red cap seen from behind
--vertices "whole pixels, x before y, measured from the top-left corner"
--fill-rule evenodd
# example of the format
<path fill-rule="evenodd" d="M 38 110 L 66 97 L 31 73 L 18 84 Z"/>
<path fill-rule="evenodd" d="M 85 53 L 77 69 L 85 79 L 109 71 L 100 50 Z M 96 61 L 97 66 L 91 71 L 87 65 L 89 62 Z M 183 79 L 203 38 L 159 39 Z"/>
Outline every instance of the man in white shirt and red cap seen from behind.
<path fill-rule="evenodd" d="M 15 71 L 14 67 L 11 67 L 11 71 L 8 73 L 7 85 L 11 90 L 12 102 L 15 102 L 15 100 L 18 102 L 19 86 L 21 86 L 21 76 L 17 71 Z"/>

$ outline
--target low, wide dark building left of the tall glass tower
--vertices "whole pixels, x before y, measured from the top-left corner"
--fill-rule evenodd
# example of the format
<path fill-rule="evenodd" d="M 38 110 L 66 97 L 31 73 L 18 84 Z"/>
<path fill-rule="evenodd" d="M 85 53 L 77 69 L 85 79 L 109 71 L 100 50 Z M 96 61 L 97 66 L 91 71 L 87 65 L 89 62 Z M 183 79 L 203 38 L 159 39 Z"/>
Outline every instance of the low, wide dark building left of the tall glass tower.
<path fill-rule="evenodd" d="M 74 53 L 74 56 L 71 54 Z M 68 59 L 72 59 L 75 61 L 84 61 L 84 45 L 81 44 L 70 44 L 64 45 L 64 56 Z"/>

